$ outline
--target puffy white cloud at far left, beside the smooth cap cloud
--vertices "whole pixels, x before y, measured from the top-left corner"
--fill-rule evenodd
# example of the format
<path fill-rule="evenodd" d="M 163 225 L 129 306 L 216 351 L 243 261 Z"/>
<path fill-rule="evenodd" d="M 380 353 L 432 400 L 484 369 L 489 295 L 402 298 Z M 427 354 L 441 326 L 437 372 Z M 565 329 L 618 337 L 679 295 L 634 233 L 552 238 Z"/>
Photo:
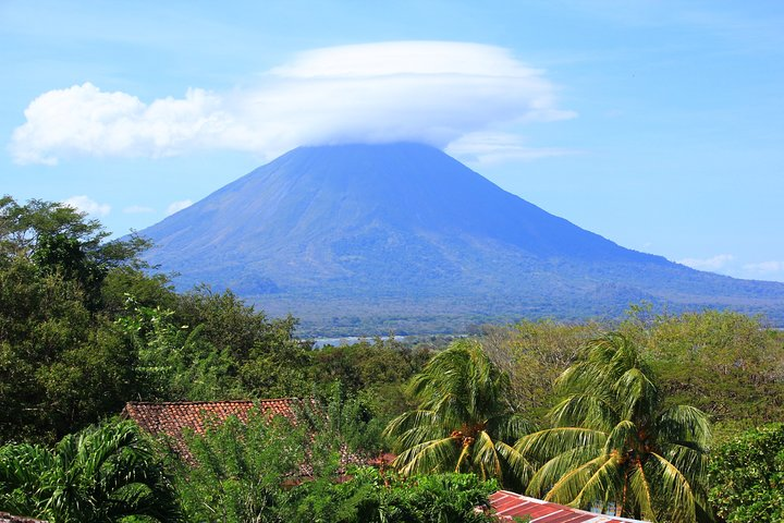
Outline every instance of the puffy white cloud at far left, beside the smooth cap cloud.
<path fill-rule="evenodd" d="M 14 130 L 11 151 L 19 163 L 47 165 L 74 155 L 172 156 L 220 132 L 229 118 L 215 109 L 220 104 L 201 89 L 149 105 L 90 83 L 50 90 L 25 109 L 27 121 Z"/>

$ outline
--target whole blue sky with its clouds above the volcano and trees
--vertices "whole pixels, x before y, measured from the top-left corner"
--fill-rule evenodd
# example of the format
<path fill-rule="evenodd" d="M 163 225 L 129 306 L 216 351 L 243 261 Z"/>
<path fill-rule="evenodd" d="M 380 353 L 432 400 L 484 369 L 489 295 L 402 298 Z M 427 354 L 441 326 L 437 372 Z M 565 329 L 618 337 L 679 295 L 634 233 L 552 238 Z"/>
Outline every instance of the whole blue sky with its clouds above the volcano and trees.
<path fill-rule="evenodd" d="M 779 1 L 0 0 L 0 192 L 144 229 L 418 139 L 624 246 L 784 281 Z"/>

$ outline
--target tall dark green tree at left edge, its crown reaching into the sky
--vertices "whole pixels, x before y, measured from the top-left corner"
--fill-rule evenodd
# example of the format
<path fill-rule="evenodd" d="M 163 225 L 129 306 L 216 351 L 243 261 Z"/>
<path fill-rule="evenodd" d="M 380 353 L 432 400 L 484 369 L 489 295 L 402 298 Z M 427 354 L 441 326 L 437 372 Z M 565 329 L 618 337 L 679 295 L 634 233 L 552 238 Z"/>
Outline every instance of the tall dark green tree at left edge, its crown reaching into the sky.
<path fill-rule="evenodd" d="M 60 204 L 0 198 L 0 441 L 56 441 L 136 392 L 135 351 L 103 282 L 144 264 L 140 239 L 107 242 Z"/>

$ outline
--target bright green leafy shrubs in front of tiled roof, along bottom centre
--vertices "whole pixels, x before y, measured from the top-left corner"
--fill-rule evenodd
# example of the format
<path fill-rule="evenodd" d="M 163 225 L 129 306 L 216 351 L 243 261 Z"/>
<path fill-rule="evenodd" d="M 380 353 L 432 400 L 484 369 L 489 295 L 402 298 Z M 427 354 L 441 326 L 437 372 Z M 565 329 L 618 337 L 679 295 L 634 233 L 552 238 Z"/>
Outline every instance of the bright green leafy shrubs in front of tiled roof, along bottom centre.
<path fill-rule="evenodd" d="M 340 430 L 345 427 L 308 421 L 313 413 L 295 425 L 256 413 L 247 423 L 230 418 L 192 436 L 192 462 L 181 463 L 176 482 L 188 521 L 494 521 L 474 510 L 494 483 L 462 474 L 404 479 L 353 466 L 356 455 Z"/>

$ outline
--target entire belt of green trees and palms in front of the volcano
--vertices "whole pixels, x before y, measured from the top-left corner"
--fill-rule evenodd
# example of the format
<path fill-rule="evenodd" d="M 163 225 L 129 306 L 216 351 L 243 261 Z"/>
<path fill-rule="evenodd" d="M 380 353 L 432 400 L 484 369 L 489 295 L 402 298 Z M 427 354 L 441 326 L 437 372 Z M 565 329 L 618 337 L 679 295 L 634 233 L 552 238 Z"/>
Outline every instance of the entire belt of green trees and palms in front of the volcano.
<path fill-rule="evenodd" d="M 316 349 L 231 291 L 173 290 L 137 236 L 0 199 L 0 512 L 54 522 L 493 521 L 498 488 L 658 522 L 781 521 L 784 335 L 733 312 L 488 326 Z M 192 460 L 128 401 L 311 398 Z M 341 455 L 394 452 L 387 467 Z M 306 472 L 303 472 L 306 467 Z"/>

